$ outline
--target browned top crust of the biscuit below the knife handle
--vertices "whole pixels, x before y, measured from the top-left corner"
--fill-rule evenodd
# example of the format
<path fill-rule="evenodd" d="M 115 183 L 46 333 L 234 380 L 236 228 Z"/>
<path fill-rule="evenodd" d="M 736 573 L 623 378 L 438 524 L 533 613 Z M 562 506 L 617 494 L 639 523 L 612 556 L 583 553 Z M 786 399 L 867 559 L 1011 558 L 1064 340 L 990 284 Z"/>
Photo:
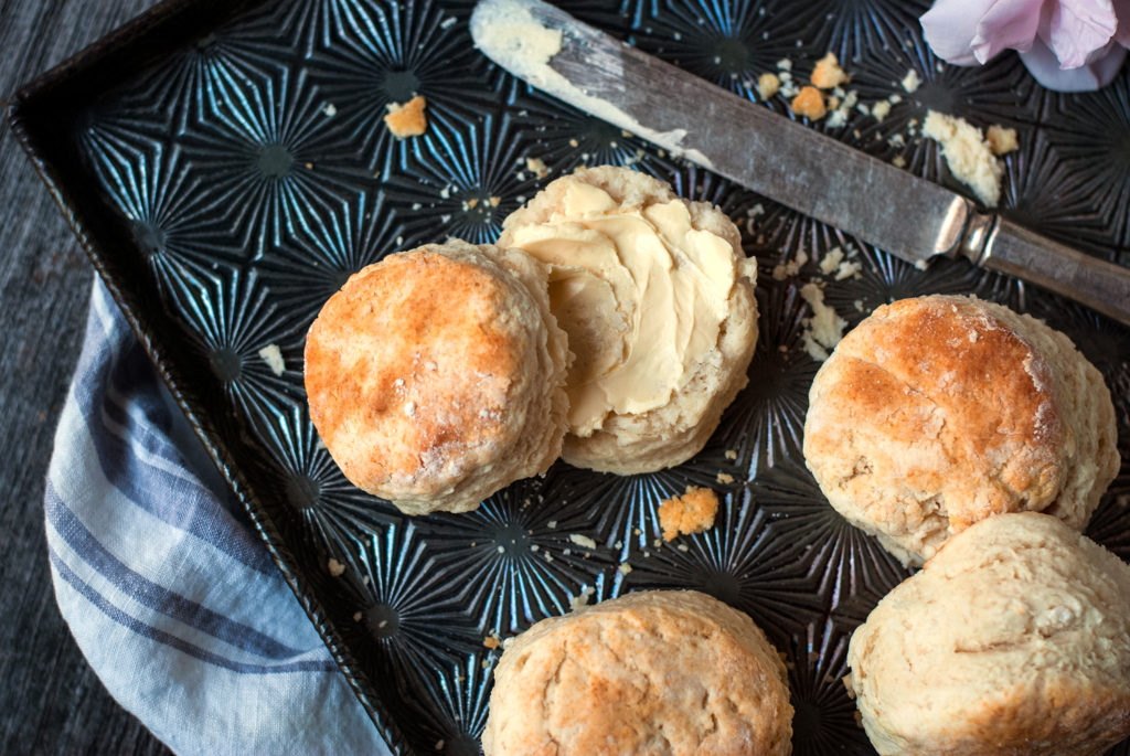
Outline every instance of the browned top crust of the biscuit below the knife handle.
<path fill-rule="evenodd" d="M 844 337 L 818 376 L 806 427 L 822 486 L 861 502 L 876 492 L 937 498 L 953 532 L 1057 496 L 1074 440 L 1049 364 L 997 307 L 903 299 Z"/>

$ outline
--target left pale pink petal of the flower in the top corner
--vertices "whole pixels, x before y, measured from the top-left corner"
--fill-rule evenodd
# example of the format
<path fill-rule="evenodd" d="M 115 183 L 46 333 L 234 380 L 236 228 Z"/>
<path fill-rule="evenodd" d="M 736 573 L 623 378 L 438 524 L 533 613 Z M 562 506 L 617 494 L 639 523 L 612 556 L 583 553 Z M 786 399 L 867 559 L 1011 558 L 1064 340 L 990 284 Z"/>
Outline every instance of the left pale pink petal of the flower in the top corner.
<path fill-rule="evenodd" d="M 1006 47 L 1027 50 L 1044 0 L 937 0 L 922 15 L 925 41 L 956 66 L 976 66 Z"/>

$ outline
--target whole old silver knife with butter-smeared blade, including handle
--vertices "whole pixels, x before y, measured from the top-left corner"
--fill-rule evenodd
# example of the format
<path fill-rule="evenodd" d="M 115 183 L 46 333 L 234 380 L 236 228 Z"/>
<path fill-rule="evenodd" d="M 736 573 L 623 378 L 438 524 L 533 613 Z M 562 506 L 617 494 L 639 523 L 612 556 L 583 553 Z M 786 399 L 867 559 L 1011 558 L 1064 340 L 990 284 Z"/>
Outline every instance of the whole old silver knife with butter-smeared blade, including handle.
<path fill-rule="evenodd" d="M 979 211 L 541 0 L 480 0 L 471 36 L 539 89 L 880 250 L 920 266 L 965 257 L 1130 325 L 1130 270 Z"/>

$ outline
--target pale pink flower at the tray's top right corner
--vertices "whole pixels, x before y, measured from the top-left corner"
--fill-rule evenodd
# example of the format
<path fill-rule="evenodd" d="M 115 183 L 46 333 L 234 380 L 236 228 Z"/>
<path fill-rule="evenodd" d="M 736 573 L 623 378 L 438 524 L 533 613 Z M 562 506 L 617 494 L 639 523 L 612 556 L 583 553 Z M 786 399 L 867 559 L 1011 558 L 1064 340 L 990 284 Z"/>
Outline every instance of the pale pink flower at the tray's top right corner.
<path fill-rule="evenodd" d="M 1130 0 L 937 0 L 921 20 L 946 61 L 977 66 L 1016 50 L 1036 80 L 1061 92 L 1106 85 L 1130 46 Z"/>

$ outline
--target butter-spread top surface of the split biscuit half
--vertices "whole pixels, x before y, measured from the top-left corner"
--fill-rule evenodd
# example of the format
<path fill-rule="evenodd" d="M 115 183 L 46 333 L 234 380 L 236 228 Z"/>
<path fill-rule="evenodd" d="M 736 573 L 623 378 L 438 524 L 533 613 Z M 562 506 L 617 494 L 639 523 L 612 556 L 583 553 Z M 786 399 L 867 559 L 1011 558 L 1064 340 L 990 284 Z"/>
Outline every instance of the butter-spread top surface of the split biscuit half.
<path fill-rule="evenodd" d="M 571 433 L 666 406 L 716 349 L 747 271 L 737 229 L 697 212 L 663 182 L 603 166 L 551 182 L 506 219 L 499 245 L 550 266 L 550 309 L 576 356 Z"/>

